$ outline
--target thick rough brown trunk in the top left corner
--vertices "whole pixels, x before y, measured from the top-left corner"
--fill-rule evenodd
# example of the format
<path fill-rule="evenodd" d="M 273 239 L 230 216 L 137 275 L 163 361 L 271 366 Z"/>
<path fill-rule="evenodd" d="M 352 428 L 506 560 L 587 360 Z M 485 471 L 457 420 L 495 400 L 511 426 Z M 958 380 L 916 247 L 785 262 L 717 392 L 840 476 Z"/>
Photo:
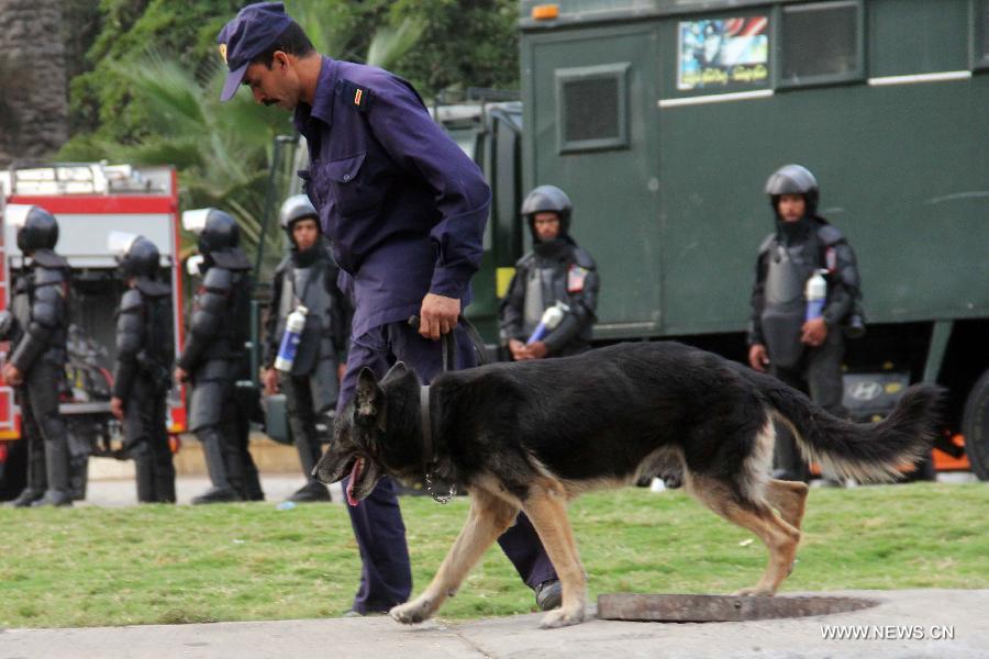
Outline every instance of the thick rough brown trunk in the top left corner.
<path fill-rule="evenodd" d="M 65 64 L 59 0 L 0 0 L 0 167 L 68 139 Z"/>

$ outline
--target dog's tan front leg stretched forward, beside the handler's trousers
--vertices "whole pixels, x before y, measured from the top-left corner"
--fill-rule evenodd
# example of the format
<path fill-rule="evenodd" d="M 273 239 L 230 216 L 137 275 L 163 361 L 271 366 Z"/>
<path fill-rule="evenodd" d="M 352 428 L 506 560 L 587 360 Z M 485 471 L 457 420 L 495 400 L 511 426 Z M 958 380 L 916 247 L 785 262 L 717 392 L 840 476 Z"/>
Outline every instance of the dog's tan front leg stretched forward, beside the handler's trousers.
<path fill-rule="evenodd" d="M 518 514 L 518 507 L 511 503 L 484 490 L 473 491 L 467 522 L 443 559 L 436 576 L 421 595 L 411 602 L 393 606 L 389 612 L 391 617 L 411 625 L 432 616 L 446 597 L 453 596 L 474 563 L 512 525 Z"/>

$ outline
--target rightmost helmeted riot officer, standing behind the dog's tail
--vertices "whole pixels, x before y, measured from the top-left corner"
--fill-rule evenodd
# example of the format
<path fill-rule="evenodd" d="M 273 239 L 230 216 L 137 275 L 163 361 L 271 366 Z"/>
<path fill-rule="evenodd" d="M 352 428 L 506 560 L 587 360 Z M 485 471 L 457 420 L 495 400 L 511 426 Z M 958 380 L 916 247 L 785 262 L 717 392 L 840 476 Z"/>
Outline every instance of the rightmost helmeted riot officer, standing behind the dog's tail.
<path fill-rule="evenodd" d="M 776 231 L 759 248 L 752 292 L 748 362 L 787 384 L 808 391 L 827 412 L 847 417 L 842 405 L 842 328 L 862 327 L 855 253 L 842 232 L 818 215 L 814 176 L 800 165 L 781 167 L 766 182 Z M 807 319 L 804 289 L 822 271 L 827 283 L 823 313 Z M 774 478 L 810 478 L 792 435 L 777 428 Z"/>

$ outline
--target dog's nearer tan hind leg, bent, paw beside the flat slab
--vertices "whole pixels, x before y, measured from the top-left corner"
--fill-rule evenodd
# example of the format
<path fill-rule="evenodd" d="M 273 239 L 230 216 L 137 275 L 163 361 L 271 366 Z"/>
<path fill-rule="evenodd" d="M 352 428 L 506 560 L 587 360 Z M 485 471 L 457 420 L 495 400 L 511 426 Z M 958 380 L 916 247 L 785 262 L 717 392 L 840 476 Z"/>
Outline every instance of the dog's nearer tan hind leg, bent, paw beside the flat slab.
<path fill-rule="evenodd" d="M 692 493 L 712 511 L 742 528 L 756 534 L 769 550 L 766 571 L 754 588 L 737 595 L 773 595 L 790 573 L 800 543 L 800 532 L 777 515 L 768 503 L 732 495 L 729 487 L 714 479 L 694 478 Z"/>

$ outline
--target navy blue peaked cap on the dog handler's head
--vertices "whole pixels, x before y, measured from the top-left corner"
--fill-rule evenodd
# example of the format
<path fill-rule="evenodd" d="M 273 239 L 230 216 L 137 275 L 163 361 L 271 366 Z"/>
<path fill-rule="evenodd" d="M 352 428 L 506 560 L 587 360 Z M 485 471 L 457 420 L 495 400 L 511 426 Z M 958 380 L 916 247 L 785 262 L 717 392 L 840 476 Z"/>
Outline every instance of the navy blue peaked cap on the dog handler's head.
<path fill-rule="evenodd" d="M 234 16 L 216 37 L 220 55 L 230 72 L 223 85 L 221 101 L 229 101 L 237 92 L 251 60 L 271 47 L 292 20 L 281 2 L 255 2 Z"/>

